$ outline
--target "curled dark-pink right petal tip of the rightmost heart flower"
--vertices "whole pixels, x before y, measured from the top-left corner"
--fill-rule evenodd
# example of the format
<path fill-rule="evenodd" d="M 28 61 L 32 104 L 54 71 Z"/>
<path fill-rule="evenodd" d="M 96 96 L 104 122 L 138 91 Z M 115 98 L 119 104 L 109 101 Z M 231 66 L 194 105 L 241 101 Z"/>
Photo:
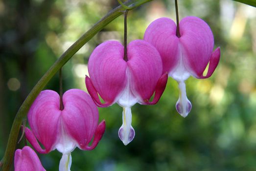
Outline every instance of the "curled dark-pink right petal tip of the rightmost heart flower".
<path fill-rule="evenodd" d="M 206 76 L 200 75 L 197 78 L 209 78 L 214 72 L 215 68 L 219 64 L 220 61 L 220 47 L 217 47 L 214 52 L 212 52 L 210 61 L 209 61 L 209 69 Z"/>

